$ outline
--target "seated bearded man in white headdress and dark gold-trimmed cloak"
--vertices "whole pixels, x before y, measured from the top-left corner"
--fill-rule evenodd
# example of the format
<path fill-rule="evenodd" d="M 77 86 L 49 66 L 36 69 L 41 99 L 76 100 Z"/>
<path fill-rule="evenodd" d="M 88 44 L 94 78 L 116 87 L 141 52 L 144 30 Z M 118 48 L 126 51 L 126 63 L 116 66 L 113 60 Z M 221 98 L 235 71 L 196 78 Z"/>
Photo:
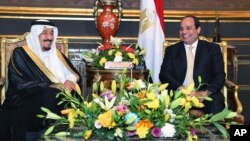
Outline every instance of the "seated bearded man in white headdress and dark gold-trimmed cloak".
<path fill-rule="evenodd" d="M 76 92 L 81 83 L 80 74 L 69 59 L 56 49 L 57 35 L 58 29 L 52 22 L 33 21 L 26 37 L 27 46 L 15 48 L 9 61 L 9 85 L 2 108 L 5 113 L 13 113 L 13 128 L 13 121 L 23 118 L 20 132 L 46 128 L 43 119 L 36 117 L 42 113 L 40 108 L 60 114 L 63 106 L 58 105 L 56 94 L 62 89 Z"/>

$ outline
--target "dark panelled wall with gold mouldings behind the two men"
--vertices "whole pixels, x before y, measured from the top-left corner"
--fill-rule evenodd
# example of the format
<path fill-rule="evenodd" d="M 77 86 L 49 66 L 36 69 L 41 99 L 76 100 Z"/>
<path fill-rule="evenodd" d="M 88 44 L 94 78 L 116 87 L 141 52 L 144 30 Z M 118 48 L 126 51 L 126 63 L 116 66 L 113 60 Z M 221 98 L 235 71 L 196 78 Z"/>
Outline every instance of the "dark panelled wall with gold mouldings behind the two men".
<path fill-rule="evenodd" d="M 14 37 L 30 30 L 34 19 L 49 19 L 58 26 L 59 36 L 69 39 L 71 49 L 92 49 L 101 42 L 93 17 L 95 0 L 6 0 L 0 1 L 0 37 Z M 49 4 L 48 4 L 49 3 Z M 139 0 L 122 0 L 123 17 L 116 36 L 136 43 L 139 27 Z M 239 56 L 240 98 L 243 114 L 250 124 L 250 0 L 164 0 L 165 35 L 177 41 L 180 18 L 201 19 L 202 35 L 213 36 L 215 18 L 220 17 L 223 40 L 236 46 Z"/>

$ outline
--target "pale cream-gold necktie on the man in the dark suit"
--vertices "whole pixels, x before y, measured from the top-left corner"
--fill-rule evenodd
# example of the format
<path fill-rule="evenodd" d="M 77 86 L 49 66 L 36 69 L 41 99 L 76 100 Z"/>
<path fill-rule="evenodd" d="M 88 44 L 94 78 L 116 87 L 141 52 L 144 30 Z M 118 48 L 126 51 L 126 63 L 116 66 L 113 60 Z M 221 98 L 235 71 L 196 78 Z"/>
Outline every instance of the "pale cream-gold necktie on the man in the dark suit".
<path fill-rule="evenodd" d="M 188 48 L 187 54 L 187 74 L 186 74 L 186 85 L 189 85 L 194 82 L 193 72 L 194 72 L 194 55 L 192 52 L 193 46 L 190 45 Z"/>

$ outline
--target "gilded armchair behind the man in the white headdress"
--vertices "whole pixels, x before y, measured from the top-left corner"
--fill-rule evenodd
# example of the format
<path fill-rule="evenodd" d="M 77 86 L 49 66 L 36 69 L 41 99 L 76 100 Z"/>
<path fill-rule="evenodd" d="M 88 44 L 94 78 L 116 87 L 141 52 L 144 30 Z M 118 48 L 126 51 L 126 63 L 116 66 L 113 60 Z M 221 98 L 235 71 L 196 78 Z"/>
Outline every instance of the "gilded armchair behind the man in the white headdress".
<path fill-rule="evenodd" d="M 26 44 L 25 37 L 28 34 L 25 33 L 19 37 L 2 37 L 1 38 L 1 77 L 0 77 L 0 88 L 1 88 L 1 96 L 0 102 L 2 103 L 5 99 L 5 92 L 8 86 L 8 64 L 9 59 L 12 54 L 12 51 L 16 47 L 20 47 Z M 63 52 L 66 56 L 68 56 L 68 39 L 66 38 L 58 38 L 57 39 L 57 48 Z"/>

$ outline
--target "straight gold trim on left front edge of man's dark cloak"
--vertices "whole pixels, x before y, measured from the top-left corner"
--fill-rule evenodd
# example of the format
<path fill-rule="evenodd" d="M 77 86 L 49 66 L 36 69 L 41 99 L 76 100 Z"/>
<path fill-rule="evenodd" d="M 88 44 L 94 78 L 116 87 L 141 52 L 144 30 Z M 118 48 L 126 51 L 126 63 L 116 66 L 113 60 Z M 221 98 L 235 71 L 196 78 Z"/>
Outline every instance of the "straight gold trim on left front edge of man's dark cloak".
<path fill-rule="evenodd" d="M 57 83 L 56 77 L 52 74 L 52 72 L 44 65 L 40 58 L 27 46 L 22 47 L 24 51 L 30 56 L 30 58 L 36 63 L 36 65 L 41 69 L 41 71 L 52 81 L 53 83 Z"/>

